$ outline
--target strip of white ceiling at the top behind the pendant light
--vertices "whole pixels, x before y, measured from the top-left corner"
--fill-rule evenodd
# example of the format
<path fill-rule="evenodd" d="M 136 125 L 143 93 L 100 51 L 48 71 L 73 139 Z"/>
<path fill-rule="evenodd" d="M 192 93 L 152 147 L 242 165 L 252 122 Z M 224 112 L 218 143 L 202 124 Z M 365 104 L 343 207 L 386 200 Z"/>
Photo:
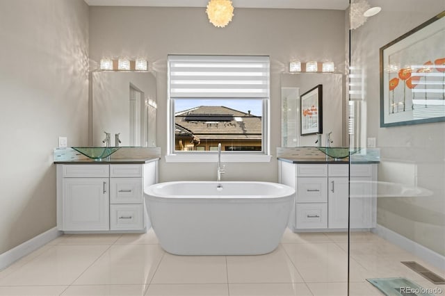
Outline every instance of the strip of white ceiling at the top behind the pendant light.
<path fill-rule="evenodd" d="M 84 0 L 89 6 L 206 7 L 208 0 Z M 235 8 L 346 10 L 349 0 L 232 0 Z"/>

